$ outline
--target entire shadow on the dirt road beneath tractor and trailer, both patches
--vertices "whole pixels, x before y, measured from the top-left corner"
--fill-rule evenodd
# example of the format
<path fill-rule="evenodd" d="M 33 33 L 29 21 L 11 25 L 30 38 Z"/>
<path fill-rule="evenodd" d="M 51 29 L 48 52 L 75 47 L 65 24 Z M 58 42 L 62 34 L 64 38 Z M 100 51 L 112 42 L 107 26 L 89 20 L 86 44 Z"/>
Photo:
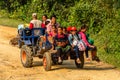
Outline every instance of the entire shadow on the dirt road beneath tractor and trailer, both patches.
<path fill-rule="evenodd" d="M 42 67 L 42 61 L 34 61 L 33 62 L 33 67 Z M 71 70 L 111 70 L 111 69 L 115 69 L 116 67 L 111 66 L 109 64 L 101 64 L 101 65 L 97 65 L 96 63 L 85 63 L 84 68 L 83 69 L 78 69 L 76 67 L 76 65 L 74 64 L 73 61 L 65 61 L 63 62 L 62 65 L 52 65 L 52 69 L 51 71 L 54 70 L 60 70 L 60 69 L 71 69 Z"/>

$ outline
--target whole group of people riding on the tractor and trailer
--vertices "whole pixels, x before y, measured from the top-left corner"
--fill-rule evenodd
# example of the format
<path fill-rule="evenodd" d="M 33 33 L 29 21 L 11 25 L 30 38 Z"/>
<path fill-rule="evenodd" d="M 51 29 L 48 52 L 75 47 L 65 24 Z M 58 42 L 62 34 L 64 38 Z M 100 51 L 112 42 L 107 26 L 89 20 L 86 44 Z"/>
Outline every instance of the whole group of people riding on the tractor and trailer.
<path fill-rule="evenodd" d="M 42 21 L 37 19 L 37 14 L 32 14 L 32 20 L 30 21 L 29 28 L 43 28 L 44 32 L 47 34 L 47 39 L 51 43 L 51 49 L 57 50 L 58 62 L 61 63 L 61 54 L 67 53 L 70 54 L 71 49 L 74 50 L 76 54 L 76 62 L 81 63 L 79 59 L 79 48 L 75 42 L 82 40 L 86 45 L 86 57 L 88 57 L 88 51 L 91 51 L 92 60 L 100 62 L 100 59 L 97 57 L 97 48 L 96 46 L 88 42 L 86 36 L 87 26 L 82 25 L 78 31 L 75 26 L 61 27 L 60 24 L 56 22 L 56 16 L 52 15 L 48 19 L 47 15 L 42 16 Z M 70 56 L 68 57 L 70 59 Z"/>

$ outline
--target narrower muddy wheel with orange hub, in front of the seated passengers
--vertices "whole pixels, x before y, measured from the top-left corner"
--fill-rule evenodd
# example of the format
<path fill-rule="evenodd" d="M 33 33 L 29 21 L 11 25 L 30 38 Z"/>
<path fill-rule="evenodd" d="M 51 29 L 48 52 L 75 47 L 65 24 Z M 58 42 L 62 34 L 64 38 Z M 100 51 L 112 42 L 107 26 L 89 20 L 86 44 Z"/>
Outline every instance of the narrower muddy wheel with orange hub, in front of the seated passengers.
<path fill-rule="evenodd" d="M 45 52 L 43 55 L 43 67 L 46 71 L 51 70 L 51 54 L 49 52 Z"/>

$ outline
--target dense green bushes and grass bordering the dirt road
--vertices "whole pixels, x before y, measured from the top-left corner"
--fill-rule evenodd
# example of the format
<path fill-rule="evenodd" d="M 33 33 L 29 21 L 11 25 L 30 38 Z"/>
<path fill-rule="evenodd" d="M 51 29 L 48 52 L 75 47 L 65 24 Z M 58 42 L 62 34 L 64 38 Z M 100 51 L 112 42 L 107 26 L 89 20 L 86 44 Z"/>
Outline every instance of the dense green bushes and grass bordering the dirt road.
<path fill-rule="evenodd" d="M 120 0 L 2 0 L 0 25 L 29 23 L 33 12 L 55 14 L 65 27 L 87 24 L 100 58 L 120 67 Z"/>

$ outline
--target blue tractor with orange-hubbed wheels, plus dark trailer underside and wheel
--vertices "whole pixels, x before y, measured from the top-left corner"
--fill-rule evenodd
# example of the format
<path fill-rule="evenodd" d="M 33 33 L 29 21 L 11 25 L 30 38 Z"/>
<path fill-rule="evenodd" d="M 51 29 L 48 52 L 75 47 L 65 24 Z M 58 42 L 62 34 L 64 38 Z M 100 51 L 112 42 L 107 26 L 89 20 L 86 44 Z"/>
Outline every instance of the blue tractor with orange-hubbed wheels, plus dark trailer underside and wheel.
<path fill-rule="evenodd" d="M 39 35 L 35 35 L 35 31 L 39 32 Z M 47 39 L 47 35 L 44 34 L 42 28 L 29 28 L 18 30 L 19 40 L 18 46 L 21 49 L 20 59 L 24 67 L 32 67 L 33 57 L 39 57 L 43 59 L 43 67 L 46 71 L 50 71 L 52 64 L 62 65 L 64 60 L 68 59 L 67 53 L 62 53 L 62 62 L 58 63 L 57 50 L 51 50 L 52 45 Z M 45 37 L 45 39 L 43 38 Z M 79 52 L 79 58 L 81 63 L 76 62 L 76 55 L 74 50 L 70 50 L 70 58 L 75 61 L 77 68 L 83 68 L 84 66 L 84 55 L 83 51 Z"/>

